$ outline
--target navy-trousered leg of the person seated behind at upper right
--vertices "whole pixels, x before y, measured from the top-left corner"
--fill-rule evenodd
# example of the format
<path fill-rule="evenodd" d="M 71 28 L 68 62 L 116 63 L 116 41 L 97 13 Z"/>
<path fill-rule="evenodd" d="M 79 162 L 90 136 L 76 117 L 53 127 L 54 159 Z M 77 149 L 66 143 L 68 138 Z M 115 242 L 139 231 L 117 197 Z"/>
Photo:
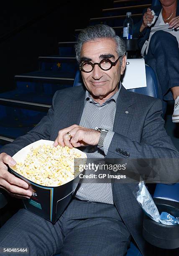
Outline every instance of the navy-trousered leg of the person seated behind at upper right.
<path fill-rule="evenodd" d="M 176 37 L 165 31 L 155 32 L 145 62 L 156 72 L 164 100 L 172 100 L 170 88 L 179 86 L 179 45 Z"/>

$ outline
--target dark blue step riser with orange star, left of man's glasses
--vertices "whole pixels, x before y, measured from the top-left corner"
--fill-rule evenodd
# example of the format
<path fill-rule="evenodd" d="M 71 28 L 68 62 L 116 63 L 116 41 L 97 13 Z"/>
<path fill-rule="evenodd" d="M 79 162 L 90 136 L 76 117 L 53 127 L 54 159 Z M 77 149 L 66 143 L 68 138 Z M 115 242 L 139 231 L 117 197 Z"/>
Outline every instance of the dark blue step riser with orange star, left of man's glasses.
<path fill-rule="evenodd" d="M 41 71 L 51 70 L 57 72 L 66 72 L 66 70 L 77 70 L 77 61 L 75 57 L 40 56 L 38 57 L 39 69 Z"/>

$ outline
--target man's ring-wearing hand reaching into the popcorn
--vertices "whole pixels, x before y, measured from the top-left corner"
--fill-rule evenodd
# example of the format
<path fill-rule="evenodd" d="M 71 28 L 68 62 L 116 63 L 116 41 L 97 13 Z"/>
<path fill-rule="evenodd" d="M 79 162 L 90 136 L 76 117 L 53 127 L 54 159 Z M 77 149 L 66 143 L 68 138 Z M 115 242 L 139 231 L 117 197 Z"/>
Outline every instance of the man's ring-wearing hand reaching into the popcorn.
<path fill-rule="evenodd" d="M 72 138 L 70 138 L 68 133 Z M 88 129 L 79 125 L 72 125 L 59 131 L 59 134 L 55 139 L 54 146 L 68 146 L 69 148 L 77 148 L 87 145 L 95 146 L 97 145 L 99 138 L 99 131 Z"/>

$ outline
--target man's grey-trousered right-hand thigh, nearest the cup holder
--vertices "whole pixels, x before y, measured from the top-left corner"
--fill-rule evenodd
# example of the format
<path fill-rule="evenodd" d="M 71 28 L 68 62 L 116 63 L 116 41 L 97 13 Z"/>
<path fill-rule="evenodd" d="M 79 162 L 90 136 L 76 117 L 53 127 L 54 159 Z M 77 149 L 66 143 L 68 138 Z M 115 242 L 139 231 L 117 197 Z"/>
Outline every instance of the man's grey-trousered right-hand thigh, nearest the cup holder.
<path fill-rule="evenodd" d="M 127 253 L 130 233 L 114 205 L 73 200 L 63 218 L 65 237 L 61 256 L 124 256 Z"/>

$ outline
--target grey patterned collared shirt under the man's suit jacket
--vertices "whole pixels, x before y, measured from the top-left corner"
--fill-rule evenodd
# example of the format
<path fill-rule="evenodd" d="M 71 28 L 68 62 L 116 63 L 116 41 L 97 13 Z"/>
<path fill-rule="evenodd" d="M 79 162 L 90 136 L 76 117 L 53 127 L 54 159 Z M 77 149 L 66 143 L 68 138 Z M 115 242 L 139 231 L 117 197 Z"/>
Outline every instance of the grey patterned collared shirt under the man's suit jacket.
<path fill-rule="evenodd" d="M 87 158 L 102 159 L 107 155 L 108 148 L 114 135 L 113 125 L 120 89 L 121 84 L 119 84 L 118 91 L 110 97 L 110 99 L 102 103 L 102 105 L 95 102 L 90 93 L 86 91 L 84 110 L 79 125 L 90 129 L 103 128 L 108 130 L 103 148 L 99 149 L 97 146 L 87 146 L 84 148 L 83 151 L 87 154 Z M 90 173 L 90 170 L 85 170 L 85 174 Z M 87 181 L 82 182 L 78 187 L 75 197 L 90 202 L 113 204 L 111 183 L 97 183 L 96 180 L 93 181 L 93 183 L 90 183 L 91 181 L 92 180 L 89 180 L 89 183 L 87 183 Z"/>

